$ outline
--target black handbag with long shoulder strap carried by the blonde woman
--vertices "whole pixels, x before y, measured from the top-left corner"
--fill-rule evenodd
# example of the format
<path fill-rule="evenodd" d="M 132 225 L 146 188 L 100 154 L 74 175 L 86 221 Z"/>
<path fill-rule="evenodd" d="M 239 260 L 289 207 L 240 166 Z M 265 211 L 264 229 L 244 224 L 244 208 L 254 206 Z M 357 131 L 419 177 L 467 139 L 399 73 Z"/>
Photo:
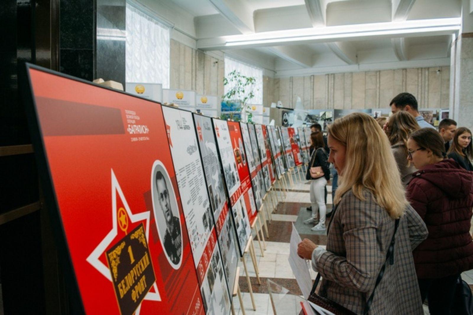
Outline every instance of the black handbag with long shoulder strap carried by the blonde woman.
<path fill-rule="evenodd" d="M 335 214 L 335 211 L 337 210 L 337 207 L 333 209 L 333 214 Z M 330 221 L 332 223 L 332 221 Z M 373 298 L 375 296 L 375 290 L 376 287 L 378 286 L 379 282 L 381 282 L 381 279 L 383 279 L 383 275 L 386 269 L 386 264 L 389 261 L 389 264 L 394 264 L 394 239 L 396 236 L 397 228 L 399 226 L 399 219 L 396 219 L 394 222 L 394 233 L 393 233 L 393 238 L 391 238 L 391 243 L 389 244 L 389 248 L 386 253 L 386 260 L 381 267 L 381 270 L 379 271 L 378 277 L 376 279 L 375 287 L 373 288 L 373 291 L 371 292 L 371 295 L 369 296 L 368 300 L 366 301 L 366 306 L 363 311 L 364 315 L 368 315 L 369 308 L 371 307 L 371 303 L 373 302 Z M 327 227 L 327 235 L 328 235 L 328 230 L 330 228 L 330 225 Z M 317 285 L 319 284 L 320 281 L 320 272 L 317 274 L 317 277 L 315 278 L 314 285 L 312 286 L 312 290 L 310 291 L 309 298 L 307 299 L 308 301 L 314 303 L 317 306 L 320 306 L 327 311 L 332 312 L 335 315 L 353 315 L 352 311 L 347 309 L 344 306 L 341 306 L 340 304 L 337 304 L 333 302 L 332 300 L 328 298 L 324 298 L 317 293 L 315 293 L 315 289 L 317 288 Z M 468 288 L 469 289 L 469 288 Z M 470 291 L 470 297 L 471 297 L 471 291 Z M 453 313 L 456 314 L 456 313 Z M 465 313 L 465 314 L 470 314 L 470 313 Z"/>

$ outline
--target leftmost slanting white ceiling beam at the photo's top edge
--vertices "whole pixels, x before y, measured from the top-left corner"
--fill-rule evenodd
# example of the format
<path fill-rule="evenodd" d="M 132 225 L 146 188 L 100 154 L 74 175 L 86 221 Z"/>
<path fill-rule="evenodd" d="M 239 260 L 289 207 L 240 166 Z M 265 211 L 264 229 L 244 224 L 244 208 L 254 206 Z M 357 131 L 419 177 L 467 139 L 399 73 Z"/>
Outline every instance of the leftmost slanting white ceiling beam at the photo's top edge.
<path fill-rule="evenodd" d="M 253 11 L 242 0 L 209 0 L 242 34 L 254 33 Z"/>

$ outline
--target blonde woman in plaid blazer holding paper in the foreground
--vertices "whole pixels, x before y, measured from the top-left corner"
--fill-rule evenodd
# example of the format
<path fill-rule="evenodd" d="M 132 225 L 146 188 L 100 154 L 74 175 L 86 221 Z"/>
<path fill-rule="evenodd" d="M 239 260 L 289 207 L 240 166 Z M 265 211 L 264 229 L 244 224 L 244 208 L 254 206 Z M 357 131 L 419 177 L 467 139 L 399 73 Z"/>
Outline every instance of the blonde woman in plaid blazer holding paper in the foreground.
<path fill-rule="evenodd" d="M 405 198 L 387 137 L 364 113 L 335 120 L 328 135 L 340 186 L 327 246 L 306 238 L 298 255 L 324 278 L 319 294 L 356 314 L 423 314 L 412 250 L 428 232 Z"/>

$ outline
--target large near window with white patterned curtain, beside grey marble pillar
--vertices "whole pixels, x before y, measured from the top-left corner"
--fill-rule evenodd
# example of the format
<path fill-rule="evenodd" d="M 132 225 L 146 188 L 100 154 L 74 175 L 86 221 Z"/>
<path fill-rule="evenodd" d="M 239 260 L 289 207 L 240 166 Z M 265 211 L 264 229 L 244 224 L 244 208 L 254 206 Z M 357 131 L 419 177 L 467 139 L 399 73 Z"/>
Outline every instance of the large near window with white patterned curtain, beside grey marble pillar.
<path fill-rule="evenodd" d="M 161 83 L 169 88 L 169 28 L 126 5 L 126 82 Z"/>

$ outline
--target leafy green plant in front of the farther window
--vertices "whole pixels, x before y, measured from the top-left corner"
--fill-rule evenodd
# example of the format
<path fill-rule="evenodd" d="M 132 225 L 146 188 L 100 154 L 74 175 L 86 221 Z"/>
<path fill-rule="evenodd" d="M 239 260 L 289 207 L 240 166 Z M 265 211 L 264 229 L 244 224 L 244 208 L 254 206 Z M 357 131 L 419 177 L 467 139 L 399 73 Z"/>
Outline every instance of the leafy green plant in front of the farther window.
<path fill-rule="evenodd" d="M 230 103 L 239 101 L 241 103 L 240 117 L 247 122 L 252 122 L 253 113 L 250 111 L 248 101 L 254 98 L 254 86 L 256 83 L 255 77 L 247 77 L 242 75 L 239 71 L 233 70 L 227 77 L 223 78 L 223 85 L 229 85 L 230 89 L 222 96 L 222 101 L 230 105 Z M 258 90 L 258 89 L 257 89 Z M 234 113 L 230 112 L 230 119 L 234 119 Z M 225 114 L 221 115 L 225 119 Z"/>

